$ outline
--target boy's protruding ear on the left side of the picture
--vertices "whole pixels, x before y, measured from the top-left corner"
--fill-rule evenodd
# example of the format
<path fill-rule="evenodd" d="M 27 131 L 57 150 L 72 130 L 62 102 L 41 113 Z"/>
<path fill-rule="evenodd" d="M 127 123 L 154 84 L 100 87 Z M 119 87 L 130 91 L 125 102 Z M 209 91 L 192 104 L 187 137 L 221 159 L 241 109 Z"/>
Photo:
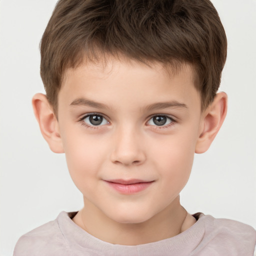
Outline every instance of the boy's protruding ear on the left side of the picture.
<path fill-rule="evenodd" d="M 34 115 L 39 123 L 42 136 L 54 153 L 63 153 L 57 118 L 46 96 L 36 93 L 32 98 Z"/>

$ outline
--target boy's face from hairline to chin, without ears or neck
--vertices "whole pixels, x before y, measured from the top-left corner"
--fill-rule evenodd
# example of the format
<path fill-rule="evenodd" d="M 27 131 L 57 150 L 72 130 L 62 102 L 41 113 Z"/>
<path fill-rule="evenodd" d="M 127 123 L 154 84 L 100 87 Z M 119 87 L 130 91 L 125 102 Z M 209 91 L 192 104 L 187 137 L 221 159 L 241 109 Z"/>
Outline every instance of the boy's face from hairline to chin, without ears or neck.
<path fill-rule="evenodd" d="M 58 124 L 85 204 L 121 223 L 148 220 L 173 207 L 190 174 L 202 127 L 192 69 L 124 59 L 68 69 Z"/>

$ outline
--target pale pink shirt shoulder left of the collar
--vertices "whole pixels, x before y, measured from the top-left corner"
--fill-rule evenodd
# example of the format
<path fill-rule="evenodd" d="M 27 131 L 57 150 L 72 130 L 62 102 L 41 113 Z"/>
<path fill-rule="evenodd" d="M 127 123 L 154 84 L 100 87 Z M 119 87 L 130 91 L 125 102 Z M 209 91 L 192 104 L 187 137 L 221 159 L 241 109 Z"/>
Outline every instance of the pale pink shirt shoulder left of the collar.
<path fill-rule="evenodd" d="M 67 214 L 61 212 L 61 214 Z M 13 256 L 66 255 L 66 241 L 58 226 L 58 217 L 23 234 L 17 241 Z"/>

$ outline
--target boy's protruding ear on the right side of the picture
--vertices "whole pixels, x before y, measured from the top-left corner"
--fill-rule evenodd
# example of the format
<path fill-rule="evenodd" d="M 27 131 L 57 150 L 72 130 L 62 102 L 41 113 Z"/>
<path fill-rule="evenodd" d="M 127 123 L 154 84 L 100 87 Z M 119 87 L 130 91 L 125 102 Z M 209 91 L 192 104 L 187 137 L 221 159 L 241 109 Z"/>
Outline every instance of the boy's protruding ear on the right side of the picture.
<path fill-rule="evenodd" d="M 227 95 L 219 92 L 202 114 L 201 130 L 195 146 L 195 153 L 205 152 L 220 129 L 227 110 Z"/>

